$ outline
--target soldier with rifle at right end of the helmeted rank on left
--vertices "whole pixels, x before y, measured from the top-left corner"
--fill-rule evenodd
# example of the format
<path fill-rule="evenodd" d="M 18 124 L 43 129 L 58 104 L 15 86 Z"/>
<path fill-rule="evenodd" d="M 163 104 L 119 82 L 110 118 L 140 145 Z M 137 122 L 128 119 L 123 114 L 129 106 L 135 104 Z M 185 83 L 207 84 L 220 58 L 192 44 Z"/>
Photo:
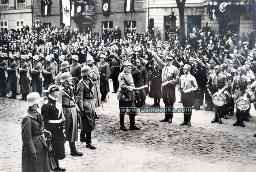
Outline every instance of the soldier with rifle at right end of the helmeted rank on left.
<path fill-rule="evenodd" d="M 42 73 L 44 75 L 44 87 L 45 90 L 48 89 L 49 85 L 53 83 L 53 71 L 54 71 L 54 65 L 51 62 L 52 58 L 50 56 L 45 57 L 46 61 L 46 68 L 42 67 Z M 48 92 L 45 92 L 44 96 L 48 96 Z"/>

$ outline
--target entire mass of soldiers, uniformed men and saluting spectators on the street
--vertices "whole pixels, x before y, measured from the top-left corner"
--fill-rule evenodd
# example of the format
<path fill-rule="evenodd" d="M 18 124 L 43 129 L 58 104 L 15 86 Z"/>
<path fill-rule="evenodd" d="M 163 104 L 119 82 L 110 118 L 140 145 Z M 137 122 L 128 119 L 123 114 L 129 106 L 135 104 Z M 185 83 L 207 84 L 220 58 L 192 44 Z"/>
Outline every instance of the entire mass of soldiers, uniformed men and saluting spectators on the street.
<path fill-rule="evenodd" d="M 29 106 L 22 120 L 22 171 L 65 171 L 58 160 L 65 158 L 66 140 L 72 156 L 83 156 L 75 145 L 78 126 L 79 140 L 86 148 L 96 149 L 91 143 L 95 108 L 107 101 L 109 79 L 119 108 L 144 107 L 148 95 L 154 99 L 151 107 L 160 107 L 161 99 L 166 108 L 173 108 L 176 101 L 196 111 L 203 106 L 214 112 L 211 123 L 222 124 L 222 119 L 235 114 L 233 125 L 245 127 L 244 121 L 252 117 L 256 44 L 251 39 L 241 40 L 231 31 L 214 35 L 209 27 L 193 28 L 182 47 L 178 33 L 170 39 L 173 42 L 159 40 L 150 30 L 131 31 L 127 38 L 121 38 L 120 31 L 114 33 L 106 39 L 68 27 L 40 31 L 25 27 L 4 33 L 1 97 L 7 92 L 11 92 L 9 99 L 21 95 L 19 100 Z M 39 113 L 39 102 L 44 99 Z M 127 111 L 127 115 L 129 129 L 139 130 L 136 113 Z M 120 110 L 119 117 L 120 130 L 127 131 L 124 111 Z M 192 111 L 184 113 L 180 125 L 190 127 L 191 117 Z M 172 120 L 173 113 L 167 112 L 160 122 Z"/>

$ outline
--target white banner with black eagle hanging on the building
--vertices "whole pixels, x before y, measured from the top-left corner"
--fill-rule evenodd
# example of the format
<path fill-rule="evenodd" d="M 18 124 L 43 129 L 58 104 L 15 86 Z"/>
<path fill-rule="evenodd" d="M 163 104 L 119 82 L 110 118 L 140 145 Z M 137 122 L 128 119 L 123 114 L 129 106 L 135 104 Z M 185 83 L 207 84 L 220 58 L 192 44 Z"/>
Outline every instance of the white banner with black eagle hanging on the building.
<path fill-rule="evenodd" d="M 62 13 L 62 21 L 61 23 L 65 24 L 65 26 L 71 25 L 71 5 L 69 0 L 61 0 L 61 13 Z"/>

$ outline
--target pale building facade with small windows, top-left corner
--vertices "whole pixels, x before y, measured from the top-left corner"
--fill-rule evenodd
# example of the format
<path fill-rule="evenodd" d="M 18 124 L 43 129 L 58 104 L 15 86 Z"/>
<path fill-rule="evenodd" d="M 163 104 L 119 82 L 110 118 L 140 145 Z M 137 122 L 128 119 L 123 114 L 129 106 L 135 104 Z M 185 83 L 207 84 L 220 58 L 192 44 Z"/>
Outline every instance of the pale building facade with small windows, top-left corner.
<path fill-rule="evenodd" d="M 32 0 L 0 0 L 1 30 L 32 27 Z"/>

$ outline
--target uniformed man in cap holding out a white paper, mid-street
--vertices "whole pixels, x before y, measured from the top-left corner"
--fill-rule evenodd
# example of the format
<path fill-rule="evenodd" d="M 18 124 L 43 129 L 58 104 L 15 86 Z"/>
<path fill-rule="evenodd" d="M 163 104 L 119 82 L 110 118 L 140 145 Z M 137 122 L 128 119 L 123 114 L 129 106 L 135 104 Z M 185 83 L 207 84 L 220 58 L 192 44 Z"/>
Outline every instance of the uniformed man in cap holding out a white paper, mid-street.
<path fill-rule="evenodd" d="M 117 100 L 119 100 L 119 108 L 134 108 L 134 91 L 138 91 L 138 88 L 134 87 L 133 78 L 131 74 L 131 63 L 124 64 L 124 71 L 121 72 L 118 76 L 119 88 L 117 91 Z M 120 129 L 127 131 L 127 128 L 124 126 L 124 115 L 125 113 L 121 112 L 120 109 Z M 139 130 L 140 127 L 135 125 L 135 113 L 127 113 L 130 119 L 130 129 Z"/>

